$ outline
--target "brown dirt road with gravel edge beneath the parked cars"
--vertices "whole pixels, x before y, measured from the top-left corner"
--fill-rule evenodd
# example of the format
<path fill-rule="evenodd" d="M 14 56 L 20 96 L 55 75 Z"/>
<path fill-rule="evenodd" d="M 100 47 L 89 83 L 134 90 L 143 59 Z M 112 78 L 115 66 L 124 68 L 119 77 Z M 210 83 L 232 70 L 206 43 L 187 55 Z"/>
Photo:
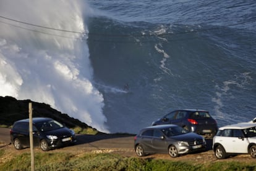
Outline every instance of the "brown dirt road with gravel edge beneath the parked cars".
<path fill-rule="evenodd" d="M 239 161 L 239 162 L 255 162 L 255 159 L 249 154 L 241 154 L 229 157 L 224 160 L 217 160 L 211 149 L 212 140 L 207 140 L 207 151 L 202 153 L 187 154 L 184 156 L 172 158 L 168 154 L 150 154 L 143 158 L 150 159 L 168 159 L 171 161 L 189 161 L 194 164 L 221 162 L 221 161 Z M 17 153 L 29 153 L 30 149 L 16 150 L 10 144 L 9 129 L 0 128 L 0 149 L 7 151 L 7 155 L 11 156 Z M 54 149 L 49 152 L 41 152 L 39 148 L 35 151 L 38 153 L 52 153 L 53 151 L 66 151 L 69 153 L 115 153 L 124 157 L 137 157 L 134 152 L 134 137 L 125 135 L 77 135 L 77 143 L 74 146 L 67 146 L 65 148 Z M 8 158 L 8 156 L 4 157 Z"/>

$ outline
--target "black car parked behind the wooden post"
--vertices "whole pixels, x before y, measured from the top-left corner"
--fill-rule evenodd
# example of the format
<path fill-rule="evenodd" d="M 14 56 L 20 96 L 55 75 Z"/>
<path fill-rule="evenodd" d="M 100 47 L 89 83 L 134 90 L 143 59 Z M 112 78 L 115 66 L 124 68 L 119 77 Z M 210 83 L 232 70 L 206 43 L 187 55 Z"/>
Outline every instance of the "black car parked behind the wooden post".
<path fill-rule="evenodd" d="M 33 118 L 33 145 L 43 151 L 51 148 L 72 145 L 76 142 L 75 133 L 61 123 L 48 117 Z M 10 130 L 11 143 L 16 149 L 30 146 L 29 119 L 14 122 Z"/>

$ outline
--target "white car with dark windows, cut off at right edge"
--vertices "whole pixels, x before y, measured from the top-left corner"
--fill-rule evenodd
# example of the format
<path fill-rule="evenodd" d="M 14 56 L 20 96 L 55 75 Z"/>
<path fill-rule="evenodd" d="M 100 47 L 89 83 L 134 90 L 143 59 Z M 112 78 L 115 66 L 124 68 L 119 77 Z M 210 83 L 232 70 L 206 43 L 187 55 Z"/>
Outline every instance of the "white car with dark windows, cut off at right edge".
<path fill-rule="evenodd" d="M 220 127 L 213 137 L 213 151 L 218 159 L 243 153 L 256 158 L 256 123 L 244 122 Z"/>

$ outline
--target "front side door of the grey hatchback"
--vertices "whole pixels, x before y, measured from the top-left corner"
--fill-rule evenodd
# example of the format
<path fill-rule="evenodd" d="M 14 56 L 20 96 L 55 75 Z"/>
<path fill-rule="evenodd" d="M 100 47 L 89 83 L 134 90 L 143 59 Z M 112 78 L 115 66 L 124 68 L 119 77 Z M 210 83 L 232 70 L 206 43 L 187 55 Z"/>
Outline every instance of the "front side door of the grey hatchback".
<path fill-rule="evenodd" d="M 164 138 L 163 132 L 158 129 L 155 129 L 153 132 L 152 146 L 157 153 L 168 152 L 168 146 L 166 145 L 166 139 Z"/>

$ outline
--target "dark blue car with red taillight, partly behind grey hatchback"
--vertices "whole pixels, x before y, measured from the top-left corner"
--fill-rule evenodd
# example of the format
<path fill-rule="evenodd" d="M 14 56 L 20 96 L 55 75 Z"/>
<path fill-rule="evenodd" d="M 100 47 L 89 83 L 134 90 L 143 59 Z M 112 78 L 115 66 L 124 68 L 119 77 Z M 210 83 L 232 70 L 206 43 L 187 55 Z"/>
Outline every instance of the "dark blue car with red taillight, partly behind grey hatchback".
<path fill-rule="evenodd" d="M 218 130 L 215 119 L 210 116 L 208 111 L 201 109 L 177 109 L 166 114 L 152 125 L 175 124 L 203 135 L 205 138 L 213 138 Z"/>

